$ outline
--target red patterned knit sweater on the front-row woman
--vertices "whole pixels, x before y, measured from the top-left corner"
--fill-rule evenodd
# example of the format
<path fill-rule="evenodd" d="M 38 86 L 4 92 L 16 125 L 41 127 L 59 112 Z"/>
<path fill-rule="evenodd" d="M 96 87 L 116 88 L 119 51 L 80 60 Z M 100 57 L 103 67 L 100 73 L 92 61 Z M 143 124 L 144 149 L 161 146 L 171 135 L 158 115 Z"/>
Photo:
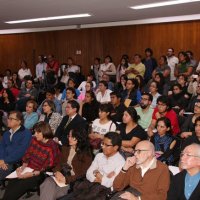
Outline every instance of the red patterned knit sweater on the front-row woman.
<path fill-rule="evenodd" d="M 52 139 L 47 143 L 37 141 L 32 138 L 31 144 L 23 157 L 23 162 L 28 163 L 28 167 L 43 171 L 54 167 L 59 160 L 60 151 L 58 144 Z"/>

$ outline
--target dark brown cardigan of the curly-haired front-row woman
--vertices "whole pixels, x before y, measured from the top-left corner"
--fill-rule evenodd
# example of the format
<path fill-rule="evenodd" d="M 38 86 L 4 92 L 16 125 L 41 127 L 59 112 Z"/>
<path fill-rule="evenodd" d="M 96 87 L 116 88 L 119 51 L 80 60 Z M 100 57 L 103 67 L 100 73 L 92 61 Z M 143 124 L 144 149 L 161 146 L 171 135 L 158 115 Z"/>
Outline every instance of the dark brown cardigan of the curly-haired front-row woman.
<path fill-rule="evenodd" d="M 62 169 L 62 165 L 64 163 L 67 163 L 69 152 L 70 152 L 70 147 L 67 146 L 62 147 L 61 160 L 60 163 L 54 169 L 54 172 L 60 171 Z M 92 163 L 92 155 L 87 154 L 86 152 L 81 152 L 80 154 L 76 153 L 72 160 L 72 167 L 75 175 L 65 177 L 66 183 L 75 181 L 77 177 L 84 176 L 86 174 L 86 171 L 90 167 L 91 163 Z"/>

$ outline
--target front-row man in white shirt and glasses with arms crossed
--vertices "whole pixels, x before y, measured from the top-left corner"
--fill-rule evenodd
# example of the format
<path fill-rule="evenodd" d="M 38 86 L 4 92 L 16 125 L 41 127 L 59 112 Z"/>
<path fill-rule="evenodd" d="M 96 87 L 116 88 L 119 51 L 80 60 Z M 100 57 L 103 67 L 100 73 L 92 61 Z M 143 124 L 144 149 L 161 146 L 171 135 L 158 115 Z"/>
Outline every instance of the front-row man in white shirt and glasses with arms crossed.
<path fill-rule="evenodd" d="M 87 180 L 82 182 L 83 187 L 79 187 L 79 190 L 74 188 L 73 193 L 66 195 L 62 200 L 82 199 L 81 197 L 94 200 L 105 199 L 106 192 L 110 191 L 113 186 L 113 180 L 125 163 L 124 158 L 119 153 L 121 142 L 119 134 L 108 132 L 102 142 L 103 152 L 96 155 L 87 170 Z"/>

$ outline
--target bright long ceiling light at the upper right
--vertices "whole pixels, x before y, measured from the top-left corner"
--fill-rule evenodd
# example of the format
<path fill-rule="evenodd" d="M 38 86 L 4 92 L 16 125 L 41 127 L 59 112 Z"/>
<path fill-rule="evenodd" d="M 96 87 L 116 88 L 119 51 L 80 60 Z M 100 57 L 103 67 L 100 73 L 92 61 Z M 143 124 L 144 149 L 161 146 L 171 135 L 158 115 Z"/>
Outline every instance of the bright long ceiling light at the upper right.
<path fill-rule="evenodd" d="M 159 2 L 159 3 L 150 3 L 150 4 L 132 6 L 130 8 L 138 10 L 138 9 L 145 9 L 145 8 L 155 8 L 155 7 L 162 7 L 162 6 L 177 5 L 177 4 L 183 4 L 183 3 L 193 3 L 193 2 L 198 2 L 198 1 L 200 1 L 200 0 L 163 1 L 163 2 Z"/>

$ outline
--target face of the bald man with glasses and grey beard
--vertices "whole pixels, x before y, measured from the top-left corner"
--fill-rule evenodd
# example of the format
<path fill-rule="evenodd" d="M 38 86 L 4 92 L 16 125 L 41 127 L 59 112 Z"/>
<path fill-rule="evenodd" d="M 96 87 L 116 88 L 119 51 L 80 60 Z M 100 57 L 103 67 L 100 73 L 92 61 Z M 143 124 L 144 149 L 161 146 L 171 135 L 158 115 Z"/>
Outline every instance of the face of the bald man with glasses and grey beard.
<path fill-rule="evenodd" d="M 147 164 L 148 160 L 151 157 L 150 149 L 141 143 L 138 143 L 136 145 L 134 155 L 137 165 Z"/>

